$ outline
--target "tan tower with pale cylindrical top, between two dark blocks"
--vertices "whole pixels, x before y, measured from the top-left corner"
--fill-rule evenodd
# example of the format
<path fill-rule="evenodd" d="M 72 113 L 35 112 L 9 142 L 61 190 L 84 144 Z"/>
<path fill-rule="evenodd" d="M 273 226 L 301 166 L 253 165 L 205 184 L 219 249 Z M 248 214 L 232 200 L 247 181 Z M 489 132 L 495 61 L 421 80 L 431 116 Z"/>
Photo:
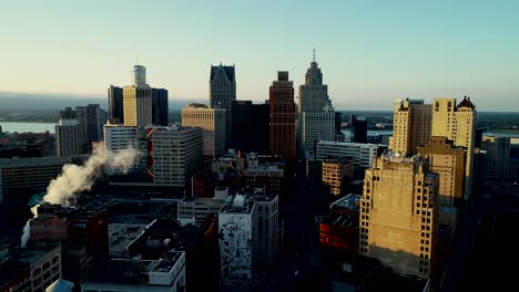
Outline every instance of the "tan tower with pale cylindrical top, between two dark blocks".
<path fill-rule="evenodd" d="M 152 118 L 152 88 L 146 84 L 146 69 L 133 66 L 133 85 L 123 88 L 124 125 L 150 126 Z"/>

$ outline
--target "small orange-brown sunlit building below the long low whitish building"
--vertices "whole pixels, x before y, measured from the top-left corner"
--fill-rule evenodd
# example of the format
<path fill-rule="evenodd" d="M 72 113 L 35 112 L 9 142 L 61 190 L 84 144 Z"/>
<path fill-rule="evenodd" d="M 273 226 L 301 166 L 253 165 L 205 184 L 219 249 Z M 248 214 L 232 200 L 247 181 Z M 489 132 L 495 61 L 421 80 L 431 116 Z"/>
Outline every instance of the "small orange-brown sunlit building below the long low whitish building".
<path fill-rule="evenodd" d="M 354 159 L 352 157 L 326 158 L 323 160 L 322 169 L 322 182 L 328 188 L 329 194 L 333 196 L 345 195 L 346 182 L 353 178 Z"/>

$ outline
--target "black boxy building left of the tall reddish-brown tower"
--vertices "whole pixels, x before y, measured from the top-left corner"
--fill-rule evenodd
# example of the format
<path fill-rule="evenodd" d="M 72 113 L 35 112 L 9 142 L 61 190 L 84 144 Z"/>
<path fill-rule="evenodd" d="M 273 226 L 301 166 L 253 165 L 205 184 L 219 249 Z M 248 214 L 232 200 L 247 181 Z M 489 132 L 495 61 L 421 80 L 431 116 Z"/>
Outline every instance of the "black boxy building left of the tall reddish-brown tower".
<path fill-rule="evenodd" d="M 252 101 L 235 101 L 232 104 L 233 123 L 231 148 L 244 153 L 268 152 L 268 104 L 253 104 Z"/>

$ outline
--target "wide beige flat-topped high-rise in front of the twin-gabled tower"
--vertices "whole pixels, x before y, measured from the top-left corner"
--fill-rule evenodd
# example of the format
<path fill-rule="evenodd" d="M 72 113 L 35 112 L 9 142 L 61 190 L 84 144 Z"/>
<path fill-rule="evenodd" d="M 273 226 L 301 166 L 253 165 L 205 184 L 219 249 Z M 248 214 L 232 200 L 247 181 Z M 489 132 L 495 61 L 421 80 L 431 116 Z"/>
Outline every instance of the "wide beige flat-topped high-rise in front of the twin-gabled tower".
<path fill-rule="evenodd" d="M 202 128 L 206 159 L 216 159 L 225 153 L 225 108 L 208 108 L 204 104 L 191 103 L 182 109 L 182 126 Z"/>

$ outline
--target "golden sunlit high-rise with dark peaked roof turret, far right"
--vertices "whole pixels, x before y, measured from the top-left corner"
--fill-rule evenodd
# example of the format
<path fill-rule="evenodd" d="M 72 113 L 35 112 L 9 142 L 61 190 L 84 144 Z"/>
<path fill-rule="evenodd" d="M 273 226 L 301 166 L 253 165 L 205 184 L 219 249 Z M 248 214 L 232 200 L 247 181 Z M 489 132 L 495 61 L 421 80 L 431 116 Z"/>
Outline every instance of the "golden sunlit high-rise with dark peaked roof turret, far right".
<path fill-rule="evenodd" d="M 465 167 L 465 199 L 470 196 L 474 177 L 474 152 L 476 139 L 476 106 L 470 97 L 456 105 L 456 98 L 435 98 L 432 108 L 432 136 L 447 137 L 456 146 L 467 150 Z"/>

